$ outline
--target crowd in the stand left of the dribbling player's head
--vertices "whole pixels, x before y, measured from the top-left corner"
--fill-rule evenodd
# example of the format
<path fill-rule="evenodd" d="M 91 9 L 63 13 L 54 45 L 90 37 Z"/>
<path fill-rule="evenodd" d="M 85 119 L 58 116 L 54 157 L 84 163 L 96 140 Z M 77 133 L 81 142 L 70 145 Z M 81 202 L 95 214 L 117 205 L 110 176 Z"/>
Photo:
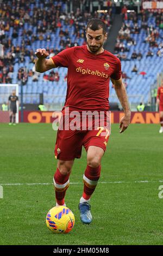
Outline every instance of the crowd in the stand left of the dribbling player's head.
<path fill-rule="evenodd" d="M 51 33 L 60 29 L 60 50 L 55 46 L 47 47 L 46 50 L 52 57 L 64 48 L 77 46 L 76 41 L 71 41 L 68 29 L 62 29 L 63 25 L 74 28 L 76 39 L 85 38 L 85 25 L 91 17 L 100 17 L 110 28 L 111 26 L 111 8 L 104 14 L 93 13 L 77 8 L 76 13 L 65 12 L 66 1 L 25 1 L 25 0 L 4 0 L 0 4 L 0 43 L 4 46 L 4 57 L 0 58 L 0 82 L 8 83 L 12 81 L 12 72 L 15 63 L 25 63 L 26 57 L 29 57 L 29 63 L 34 63 L 34 51 L 29 50 L 27 46 L 32 46 L 33 42 L 39 40 L 51 41 Z M 84 2 L 80 0 L 80 2 Z M 108 6 L 109 6 L 108 1 Z M 38 8 L 39 7 L 39 8 Z M 26 26 L 26 24 L 28 24 Z M 36 33 L 34 33 L 36 27 Z M 12 34 L 9 36 L 10 28 Z M 12 39 L 21 37 L 21 43 L 13 45 Z M 85 44 L 85 41 L 84 43 Z M 28 70 L 28 66 L 23 66 L 18 70 L 17 80 L 26 84 L 28 76 L 37 81 L 39 74 L 34 70 Z M 57 81 L 59 77 L 51 74 L 49 81 Z"/>

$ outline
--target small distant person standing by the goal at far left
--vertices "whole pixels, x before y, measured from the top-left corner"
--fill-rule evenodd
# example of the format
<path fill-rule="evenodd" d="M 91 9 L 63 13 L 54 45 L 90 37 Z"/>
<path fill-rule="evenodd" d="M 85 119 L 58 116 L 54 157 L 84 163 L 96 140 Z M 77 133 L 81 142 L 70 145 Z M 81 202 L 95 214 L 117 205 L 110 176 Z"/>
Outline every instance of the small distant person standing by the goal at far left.
<path fill-rule="evenodd" d="M 16 101 L 18 101 L 18 97 L 16 96 L 16 91 L 12 90 L 12 94 L 9 96 L 9 102 L 8 102 L 9 114 L 10 114 L 9 125 L 12 124 L 12 117 L 13 117 L 13 125 L 16 125 L 15 124 L 15 117 L 16 117 L 16 112 L 17 112 Z"/>

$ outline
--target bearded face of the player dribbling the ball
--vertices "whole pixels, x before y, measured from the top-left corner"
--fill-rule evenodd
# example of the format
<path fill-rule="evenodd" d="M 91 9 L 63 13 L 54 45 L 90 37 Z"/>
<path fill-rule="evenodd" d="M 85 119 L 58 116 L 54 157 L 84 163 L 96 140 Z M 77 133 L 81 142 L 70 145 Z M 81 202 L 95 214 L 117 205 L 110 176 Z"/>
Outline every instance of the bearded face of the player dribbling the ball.
<path fill-rule="evenodd" d="M 86 31 L 86 42 L 89 51 L 98 54 L 104 45 L 104 41 L 107 38 L 107 34 L 103 34 L 103 29 L 100 28 L 96 31 L 88 28 Z"/>

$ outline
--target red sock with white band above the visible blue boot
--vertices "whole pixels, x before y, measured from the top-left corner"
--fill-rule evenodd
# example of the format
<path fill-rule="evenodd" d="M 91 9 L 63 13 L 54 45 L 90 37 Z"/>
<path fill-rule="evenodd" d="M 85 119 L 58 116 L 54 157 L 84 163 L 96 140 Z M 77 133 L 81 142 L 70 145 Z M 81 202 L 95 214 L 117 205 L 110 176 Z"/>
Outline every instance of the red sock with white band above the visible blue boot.
<path fill-rule="evenodd" d="M 99 165 L 96 168 L 93 168 L 91 166 L 87 166 L 85 173 L 83 175 L 83 181 L 84 181 L 84 192 L 83 192 L 83 198 L 88 200 L 90 199 L 92 193 L 95 191 L 95 188 L 97 186 L 97 182 L 99 180 L 101 173 L 101 165 Z"/>

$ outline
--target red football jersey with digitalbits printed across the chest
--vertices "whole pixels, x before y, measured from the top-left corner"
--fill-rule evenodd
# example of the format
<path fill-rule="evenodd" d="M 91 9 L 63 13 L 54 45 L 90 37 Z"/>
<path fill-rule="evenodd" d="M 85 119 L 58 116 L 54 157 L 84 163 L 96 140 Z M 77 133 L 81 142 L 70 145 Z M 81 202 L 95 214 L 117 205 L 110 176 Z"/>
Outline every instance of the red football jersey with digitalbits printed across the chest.
<path fill-rule="evenodd" d="M 106 50 L 93 54 L 83 45 L 67 48 L 52 60 L 56 66 L 68 68 L 65 107 L 109 109 L 109 80 L 121 78 L 120 59 Z"/>

